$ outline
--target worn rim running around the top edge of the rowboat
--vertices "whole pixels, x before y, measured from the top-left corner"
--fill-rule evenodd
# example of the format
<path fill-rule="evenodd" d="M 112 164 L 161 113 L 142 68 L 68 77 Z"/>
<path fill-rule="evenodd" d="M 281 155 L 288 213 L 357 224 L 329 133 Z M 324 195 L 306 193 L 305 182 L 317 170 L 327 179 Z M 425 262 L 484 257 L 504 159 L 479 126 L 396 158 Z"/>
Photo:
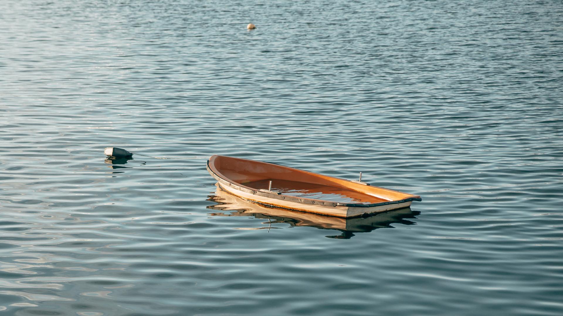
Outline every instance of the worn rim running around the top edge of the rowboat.
<path fill-rule="evenodd" d="M 207 171 L 209 171 L 209 173 L 212 175 L 212 177 L 215 178 L 220 183 L 226 184 L 229 187 L 233 187 L 235 189 L 238 189 L 238 190 L 246 192 L 246 193 L 251 193 L 252 195 L 269 197 L 269 198 L 276 198 L 278 200 L 297 202 L 297 203 L 301 203 L 301 204 L 314 204 L 314 205 L 333 206 L 333 207 L 336 207 L 336 206 L 376 207 L 376 206 L 383 206 L 383 205 L 390 205 L 390 204 L 400 204 L 400 203 L 411 202 L 411 201 L 422 201 L 422 198 L 420 196 L 412 195 L 411 197 L 403 198 L 403 200 L 377 202 L 377 203 L 370 203 L 370 204 L 359 204 L 359 203 L 331 202 L 331 201 L 326 201 L 326 200 L 318 200 L 316 198 L 294 197 L 294 196 L 291 196 L 291 195 L 267 193 L 267 192 L 259 191 L 257 189 L 251 188 L 251 187 L 243 186 L 242 184 L 236 183 L 233 180 L 230 180 L 229 178 L 225 177 L 225 175 L 223 175 L 219 170 L 217 170 L 215 165 L 213 165 L 213 166 L 210 165 L 210 161 L 213 159 L 214 160 L 213 162 L 215 162 L 216 157 L 219 157 L 219 155 L 213 155 L 213 156 L 209 157 L 209 159 L 207 160 Z M 249 161 L 253 161 L 253 162 L 260 162 L 262 164 L 271 164 L 271 165 L 283 166 L 285 168 L 305 171 L 306 173 L 310 173 L 310 174 L 314 174 L 314 175 L 321 175 L 321 174 L 314 173 L 314 172 L 307 171 L 307 170 L 302 170 L 302 169 L 293 168 L 293 167 L 284 166 L 284 165 L 272 164 L 271 162 L 264 162 L 264 161 L 244 159 L 244 158 L 236 158 L 236 157 L 230 157 L 230 156 L 221 156 L 221 157 L 249 160 Z M 335 179 L 339 179 L 339 180 L 345 180 L 347 182 L 352 182 L 350 180 L 342 179 L 342 178 L 338 178 L 338 177 L 332 177 L 332 176 L 325 176 L 325 177 L 330 177 L 330 178 L 335 178 Z M 381 187 L 376 187 L 376 186 L 372 186 L 372 187 L 381 188 Z M 395 190 L 387 189 L 387 188 L 381 188 L 381 189 L 386 189 L 386 190 L 389 190 L 389 191 L 395 191 Z M 400 192 L 400 191 L 395 191 L 395 192 L 405 193 L 405 192 Z M 405 194 L 409 194 L 409 193 L 405 193 Z"/>

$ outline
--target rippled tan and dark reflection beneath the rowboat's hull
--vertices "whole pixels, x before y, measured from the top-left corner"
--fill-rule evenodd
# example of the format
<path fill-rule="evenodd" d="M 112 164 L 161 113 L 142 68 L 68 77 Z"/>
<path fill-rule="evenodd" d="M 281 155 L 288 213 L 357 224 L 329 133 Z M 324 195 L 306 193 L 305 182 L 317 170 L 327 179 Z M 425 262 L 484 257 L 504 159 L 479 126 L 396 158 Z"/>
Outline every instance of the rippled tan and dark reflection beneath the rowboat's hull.
<path fill-rule="evenodd" d="M 343 232 L 341 236 L 331 236 L 334 238 L 349 238 L 354 236 L 353 233 L 371 232 L 376 228 L 391 227 L 390 224 L 393 223 L 412 225 L 414 222 L 406 220 L 405 218 L 414 218 L 414 216 L 420 214 L 419 212 L 411 211 L 409 207 L 405 207 L 403 209 L 355 218 L 319 215 L 257 204 L 230 194 L 222 189 L 218 183 L 216 186 L 217 190 L 215 195 L 211 196 L 209 201 L 217 202 L 218 205 L 207 206 L 207 208 L 221 212 L 210 213 L 209 215 L 254 216 L 254 218 L 274 220 L 274 222 L 268 222 L 269 224 L 288 223 L 292 226 L 338 229 Z M 224 213 L 224 211 L 231 212 Z"/>

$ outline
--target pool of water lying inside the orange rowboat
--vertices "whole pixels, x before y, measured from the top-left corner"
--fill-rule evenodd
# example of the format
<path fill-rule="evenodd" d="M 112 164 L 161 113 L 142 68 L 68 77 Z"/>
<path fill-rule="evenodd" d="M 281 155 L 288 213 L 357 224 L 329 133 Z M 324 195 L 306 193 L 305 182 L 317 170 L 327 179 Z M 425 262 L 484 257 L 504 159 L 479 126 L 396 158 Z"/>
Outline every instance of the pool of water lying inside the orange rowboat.
<path fill-rule="evenodd" d="M 317 200 L 324 200 L 330 202 L 358 203 L 358 204 L 371 204 L 371 203 L 388 201 L 373 195 L 368 195 L 350 189 L 323 186 L 322 184 L 299 182 L 292 180 L 263 179 L 258 181 L 244 182 L 240 184 L 243 184 L 243 186 L 260 190 L 260 189 L 268 189 L 270 181 L 272 182 L 271 191 L 278 192 L 283 195 L 315 198 Z"/>

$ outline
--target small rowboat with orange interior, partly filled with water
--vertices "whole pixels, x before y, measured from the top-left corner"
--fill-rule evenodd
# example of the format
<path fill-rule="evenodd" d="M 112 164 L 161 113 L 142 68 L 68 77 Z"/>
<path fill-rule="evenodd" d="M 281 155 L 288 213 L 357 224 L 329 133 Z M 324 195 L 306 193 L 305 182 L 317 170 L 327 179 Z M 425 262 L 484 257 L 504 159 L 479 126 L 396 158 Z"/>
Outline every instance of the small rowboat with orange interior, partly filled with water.
<path fill-rule="evenodd" d="M 269 162 L 213 155 L 207 170 L 225 191 L 289 210 L 350 218 L 402 209 L 421 197 Z"/>

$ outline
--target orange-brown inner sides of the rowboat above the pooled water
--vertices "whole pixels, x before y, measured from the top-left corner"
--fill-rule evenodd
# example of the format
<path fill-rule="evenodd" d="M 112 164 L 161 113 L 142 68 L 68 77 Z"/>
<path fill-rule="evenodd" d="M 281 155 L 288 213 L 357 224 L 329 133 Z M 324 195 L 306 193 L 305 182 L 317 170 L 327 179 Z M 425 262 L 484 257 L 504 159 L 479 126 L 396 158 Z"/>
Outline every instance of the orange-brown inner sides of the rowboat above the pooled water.
<path fill-rule="evenodd" d="M 350 195 L 350 191 L 355 191 L 355 197 L 359 197 L 358 200 L 361 202 L 399 201 L 404 198 L 414 197 L 408 193 L 391 189 L 365 186 L 310 171 L 235 157 L 214 155 L 209 159 L 209 168 L 225 180 L 255 190 L 262 189 L 263 187 L 249 187 L 245 184 L 260 183 L 262 180 L 268 179 L 279 179 L 289 182 L 310 183 L 316 187 L 330 187 L 331 192 L 338 193 L 338 191 L 341 191 L 342 195 Z M 265 181 L 263 182 L 265 183 Z"/>

